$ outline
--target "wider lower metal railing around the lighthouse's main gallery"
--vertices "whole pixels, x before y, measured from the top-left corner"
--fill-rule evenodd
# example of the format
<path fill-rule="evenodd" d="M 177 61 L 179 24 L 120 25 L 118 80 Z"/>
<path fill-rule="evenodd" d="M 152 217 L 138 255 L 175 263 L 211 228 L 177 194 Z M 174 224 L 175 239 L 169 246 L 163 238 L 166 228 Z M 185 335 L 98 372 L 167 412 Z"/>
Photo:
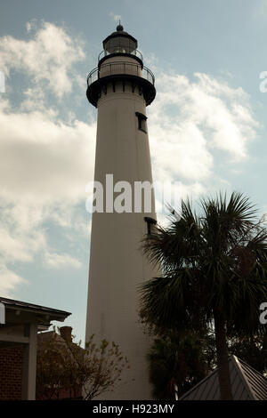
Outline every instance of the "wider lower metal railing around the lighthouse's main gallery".
<path fill-rule="evenodd" d="M 155 77 L 149 68 L 142 68 L 140 64 L 132 64 L 130 62 L 110 62 L 109 64 L 101 65 L 101 68 L 93 68 L 87 76 L 87 85 L 93 84 L 101 77 L 119 74 L 140 76 L 148 80 L 151 84 L 155 84 Z"/>

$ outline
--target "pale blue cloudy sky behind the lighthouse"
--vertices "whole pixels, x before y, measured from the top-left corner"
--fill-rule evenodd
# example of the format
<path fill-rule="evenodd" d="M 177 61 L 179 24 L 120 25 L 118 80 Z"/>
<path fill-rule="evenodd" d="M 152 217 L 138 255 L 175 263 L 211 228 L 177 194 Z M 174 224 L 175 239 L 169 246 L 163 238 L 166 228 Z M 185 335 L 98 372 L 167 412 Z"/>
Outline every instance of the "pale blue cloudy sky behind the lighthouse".
<path fill-rule="evenodd" d="M 154 181 L 193 201 L 238 190 L 267 212 L 266 0 L 3 0 L 0 295 L 68 310 L 82 341 L 97 117 L 86 75 L 118 19 L 156 76 Z"/>

